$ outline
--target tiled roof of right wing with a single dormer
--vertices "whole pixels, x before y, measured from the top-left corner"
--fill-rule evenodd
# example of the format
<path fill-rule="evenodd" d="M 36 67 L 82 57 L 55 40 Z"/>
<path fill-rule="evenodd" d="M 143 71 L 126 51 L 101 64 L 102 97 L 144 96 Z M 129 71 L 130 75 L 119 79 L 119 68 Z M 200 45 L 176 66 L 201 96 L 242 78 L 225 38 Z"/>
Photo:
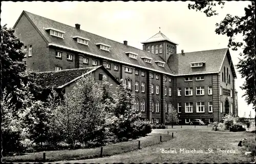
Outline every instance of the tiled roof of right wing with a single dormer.
<path fill-rule="evenodd" d="M 184 52 L 184 54 L 176 54 L 169 57 L 167 64 L 175 75 L 191 75 L 191 74 L 212 74 L 220 73 L 225 57 L 230 56 L 228 49 L 207 50 L 198 52 Z M 231 59 L 231 58 L 230 58 Z M 202 67 L 191 67 L 190 63 L 204 61 Z M 231 61 L 231 60 L 230 60 Z M 229 62 L 230 62 L 229 61 Z M 233 64 L 231 63 L 231 70 L 234 77 Z"/>

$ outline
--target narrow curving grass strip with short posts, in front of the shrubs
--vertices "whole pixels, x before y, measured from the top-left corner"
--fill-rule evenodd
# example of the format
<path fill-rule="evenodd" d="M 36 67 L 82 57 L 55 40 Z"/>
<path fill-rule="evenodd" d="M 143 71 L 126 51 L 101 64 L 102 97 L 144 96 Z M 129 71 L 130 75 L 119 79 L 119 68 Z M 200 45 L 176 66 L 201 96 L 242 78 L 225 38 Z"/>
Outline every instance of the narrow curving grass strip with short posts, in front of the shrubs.
<path fill-rule="evenodd" d="M 162 135 L 162 142 L 172 139 L 172 135 L 151 133 L 148 136 L 139 139 L 130 140 L 128 142 L 116 143 L 103 146 L 103 156 L 111 156 L 114 154 L 124 153 L 138 149 L 138 140 L 140 140 L 140 148 L 145 148 L 160 143 L 160 135 Z M 3 162 L 39 162 L 42 161 L 43 152 L 28 153 L 20 156 L 6 156 L 3 157 Z M 100 147 L 91 149 L 78 150 L 59 150 L 47 151 L 46 161 L 58 160 L 78 160 L 100 157 Z"/>

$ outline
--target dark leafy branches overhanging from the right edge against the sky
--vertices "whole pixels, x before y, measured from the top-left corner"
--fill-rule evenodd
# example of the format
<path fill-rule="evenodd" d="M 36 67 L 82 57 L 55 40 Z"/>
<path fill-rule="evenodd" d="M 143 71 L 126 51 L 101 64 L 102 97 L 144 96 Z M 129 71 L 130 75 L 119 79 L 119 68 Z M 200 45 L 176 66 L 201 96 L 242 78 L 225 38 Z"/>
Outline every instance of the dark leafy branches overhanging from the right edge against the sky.
<path fill-rule="evenodd" d="M 218 2 L 218 5 L 224 6 L 224 2 Z M 216 3 L 208 1 L 196 1 L 195 4 L 188 4 L 188 9 L 194 9 L 201 11 L 203 9 L 206 16 L 217 15 L 217 11 L 212 7 L 215 7 Z M 239 59 L 239 63 L 236 65 L 239 69 L 239 73 L 242 78 L 245 78 L 244 84 L 240 87 L 245 90 L 245 101 L 247 104 L 253 104 L 255 108 L 255 95 L 256 95 L 256 80 L 255 80 L 255 21 L 254 21 L 254 2 L 251 2 L 248 7 L 244 8 L 244 16 L 232 16 L 227 14 L 226 17 L 218 24 L 216 24 L 216 34 L 226 35 L 228 40 L 228 48 L 233 51 L 237 51 L 238 48 L 243 49 L 243 53 L 239 55 L 243 57 Z M 243 41 L 236 41 L 236 35 L 242 34 Z"/>

